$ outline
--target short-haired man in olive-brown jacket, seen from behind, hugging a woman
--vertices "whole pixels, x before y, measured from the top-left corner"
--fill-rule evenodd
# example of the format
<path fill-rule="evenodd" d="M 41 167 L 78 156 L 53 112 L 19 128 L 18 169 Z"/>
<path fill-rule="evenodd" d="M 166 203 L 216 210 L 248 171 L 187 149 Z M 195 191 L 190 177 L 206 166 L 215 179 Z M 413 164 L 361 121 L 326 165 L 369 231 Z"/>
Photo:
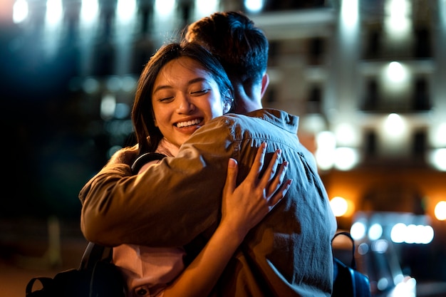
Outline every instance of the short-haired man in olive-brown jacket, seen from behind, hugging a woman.
<path fill-rule="evenodd" d="M 227 161 L 247 176 L 256 147 L 267 142 L 289 161 L 286 197 L 245 238 L 227 265 L 217 296 L 330 296 L 333 284 L 331 212 L 313 156 L 297 137 L 298 118 L 261 109 L 268 41 L 243 14 L 212 14 L 192 24 L 186 40 L 221 61 L 235 91 L 237 113 L 199 128 L 177 157 L 138 176 L 132 149 L 120 150 L 79 195 L 85 237 L 100 244 L 180 246 L 209 238 L 219 220 Z"/>

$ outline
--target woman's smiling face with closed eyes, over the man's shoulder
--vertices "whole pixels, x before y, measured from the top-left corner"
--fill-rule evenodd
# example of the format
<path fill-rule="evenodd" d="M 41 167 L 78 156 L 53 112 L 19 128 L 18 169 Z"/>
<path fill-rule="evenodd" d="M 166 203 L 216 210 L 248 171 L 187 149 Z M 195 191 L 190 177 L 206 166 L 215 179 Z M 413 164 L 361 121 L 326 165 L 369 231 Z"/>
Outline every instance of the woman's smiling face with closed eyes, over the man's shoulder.
<path fill-rule="evenodd" d="M 178 147 L 199 127 L 224 112 L 222 96 L 212 75 L 200 63 L 186 57 L 170 61 L 158 73 L 152 106 L 155 126 Z"/>

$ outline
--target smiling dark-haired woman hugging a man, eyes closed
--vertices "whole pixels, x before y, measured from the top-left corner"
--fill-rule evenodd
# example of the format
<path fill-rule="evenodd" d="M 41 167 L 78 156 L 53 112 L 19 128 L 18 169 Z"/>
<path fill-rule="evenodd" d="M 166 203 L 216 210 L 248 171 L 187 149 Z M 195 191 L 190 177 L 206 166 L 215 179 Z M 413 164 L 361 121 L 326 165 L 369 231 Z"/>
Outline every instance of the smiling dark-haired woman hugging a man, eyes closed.
<path fill-rule="evenodd" d="M 163 46 L 142 71 L 135 95 L 132 115 L 140 155 L 175 156 L 195 130 L 231 107 L 232 85 L 217 59 L 192 43 Z M 284 197 L 291 184 L 290 180 L 283 183 L 287 163 L 277 170 L 279 151 L 260 176 L 265 152 L 266 145 L 259 147 L 251 172 L 237 188 L 237 162 L 229 160 L 222 220 L 187 269 L 182 246 L 121 245 L 113 249 L 113 261 L 127 283 L 127 296 L 209 294 L 249 229 Z M 144 162 L 144 157 L 140 160 Z M 136 167 L 143 172 L 150 165 Z"/>

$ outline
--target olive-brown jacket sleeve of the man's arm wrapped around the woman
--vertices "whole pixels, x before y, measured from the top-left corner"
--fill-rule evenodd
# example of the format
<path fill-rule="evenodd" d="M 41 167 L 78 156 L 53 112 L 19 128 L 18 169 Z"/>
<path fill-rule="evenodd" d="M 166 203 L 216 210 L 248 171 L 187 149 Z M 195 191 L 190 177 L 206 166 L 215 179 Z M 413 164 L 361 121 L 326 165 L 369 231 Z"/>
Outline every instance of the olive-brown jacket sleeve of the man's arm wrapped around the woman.
<path fill-rule="evenodd" d="M 224 121 L 195 132 L 177 157 L 165 157 L 142 174 L 105 165 L 79 197 L 81 229 L 107 246 L 181 246 L 217 226 L 222 189 L 234 142 Z"/>

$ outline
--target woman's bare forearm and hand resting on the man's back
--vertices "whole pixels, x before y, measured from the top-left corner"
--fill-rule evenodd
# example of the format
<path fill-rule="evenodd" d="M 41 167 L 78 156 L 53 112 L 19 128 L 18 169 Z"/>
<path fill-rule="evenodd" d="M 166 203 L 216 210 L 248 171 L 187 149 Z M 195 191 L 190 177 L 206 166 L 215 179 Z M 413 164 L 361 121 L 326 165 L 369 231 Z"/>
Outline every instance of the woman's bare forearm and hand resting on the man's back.
<path fill-rule="evenodd" d="M 164 297 L 207 296 L 248 231 L 285 196 L 291 184 L 291 179 L 284 182 L 288 162 L 279 166 L 280 150 L 277 150 L 260 177 L 265 152 L 263 143 L 247 178 L 237 188 L 237 162 L 229 160 L 222 221 L 197 258 L 166 288 Z"/>

